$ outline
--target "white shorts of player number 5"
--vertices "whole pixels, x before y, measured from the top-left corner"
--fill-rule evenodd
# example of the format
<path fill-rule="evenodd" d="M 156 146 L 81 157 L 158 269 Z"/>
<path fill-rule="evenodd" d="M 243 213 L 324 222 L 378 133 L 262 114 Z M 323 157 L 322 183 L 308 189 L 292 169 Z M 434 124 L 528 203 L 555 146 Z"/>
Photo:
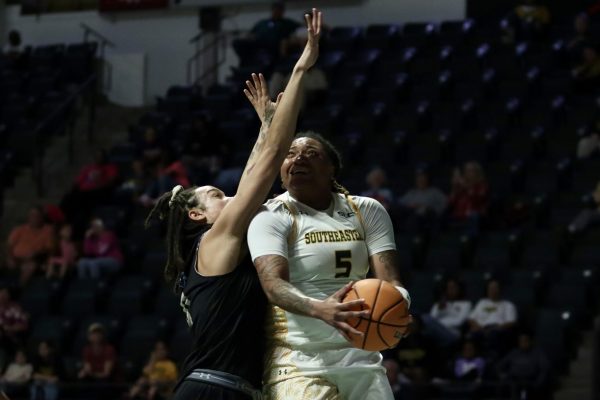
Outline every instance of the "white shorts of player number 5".
<path fill-rule="evenodd" d="M 267 400 L 393 400 L 381 354 L 355 348 L 277 347 L 267 358 Z"/>

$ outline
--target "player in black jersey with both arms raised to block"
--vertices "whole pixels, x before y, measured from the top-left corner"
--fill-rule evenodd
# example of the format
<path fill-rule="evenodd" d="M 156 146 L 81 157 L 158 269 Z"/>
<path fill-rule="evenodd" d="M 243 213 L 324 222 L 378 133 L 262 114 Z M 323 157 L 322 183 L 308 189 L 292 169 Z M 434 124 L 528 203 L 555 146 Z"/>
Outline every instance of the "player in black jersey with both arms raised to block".
<path fill-rule="evenodd" d="M 272 103 L 262 75 L 247 81 L 246 97 L 259 116 L 260 135 L 234 197 L 212 186 L 165 193 L 148 219 L 159 216 L 167 228 L 165 276 L 181 292 L 181 305 L 193 335 L 175 400 L 260 398 L 267 299 L 250 261 L 246 231 L 265 200 L 286 157 L 296 128 L 299 88 L 319 52 L 321 13 L 306 15 L 308 42 L 292 72 L 285 95 Z M 323 302 L 323 312 L 340 320 L 362 300 Z M 359 307 L 360 308 L 360 307 Z M 348 326 L 349 328 L 349 326 Z"/>

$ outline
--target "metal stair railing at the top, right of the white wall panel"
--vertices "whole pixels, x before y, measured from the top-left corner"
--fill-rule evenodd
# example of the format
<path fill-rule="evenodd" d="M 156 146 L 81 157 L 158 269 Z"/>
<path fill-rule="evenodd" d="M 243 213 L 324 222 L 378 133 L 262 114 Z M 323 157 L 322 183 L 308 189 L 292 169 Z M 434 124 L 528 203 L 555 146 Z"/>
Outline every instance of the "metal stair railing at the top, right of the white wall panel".
<path fill-rule="evenodd" d="M 216 76 L 219 67 L 225 63 L 229 35 L 228 32 L 200 32 L 189 40 L 190 43 L 196 43 L 200 48 L 187 61 L 188 85 L 199 84 L 207 88 L 210 83 L 213 83 L 206 84 L 206 80 L 213 75 Z M 205 43 L 205 41 L 209 42 Z M 216 79 L 214 80 L 216 81 Z"/>

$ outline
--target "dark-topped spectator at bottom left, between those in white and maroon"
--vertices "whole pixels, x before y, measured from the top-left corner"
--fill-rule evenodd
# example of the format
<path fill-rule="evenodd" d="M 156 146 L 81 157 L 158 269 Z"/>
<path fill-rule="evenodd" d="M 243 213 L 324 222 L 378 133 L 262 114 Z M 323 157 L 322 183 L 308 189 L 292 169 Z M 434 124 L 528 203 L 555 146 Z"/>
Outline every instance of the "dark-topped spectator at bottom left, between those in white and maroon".
<path fill-rule="evenodd" d="M 63 364 L 54 346 L 43 340 L 33 358 L 33 382 L 29 388 L 30 400 L 57 400 L 58 384 L 64 376 Z"/>

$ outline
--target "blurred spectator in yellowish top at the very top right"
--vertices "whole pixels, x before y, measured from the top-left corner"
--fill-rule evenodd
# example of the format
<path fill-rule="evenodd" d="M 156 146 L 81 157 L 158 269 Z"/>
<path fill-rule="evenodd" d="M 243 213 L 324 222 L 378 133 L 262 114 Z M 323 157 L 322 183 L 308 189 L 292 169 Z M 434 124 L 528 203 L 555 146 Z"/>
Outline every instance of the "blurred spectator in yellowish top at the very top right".
<path fill-rule="evenodd" d="M 515 40 L 541 39 L 550 24 L 550 11 L 536 0 L 523 0 L 507 18 L 504 28 L 504 42 Z"/>

